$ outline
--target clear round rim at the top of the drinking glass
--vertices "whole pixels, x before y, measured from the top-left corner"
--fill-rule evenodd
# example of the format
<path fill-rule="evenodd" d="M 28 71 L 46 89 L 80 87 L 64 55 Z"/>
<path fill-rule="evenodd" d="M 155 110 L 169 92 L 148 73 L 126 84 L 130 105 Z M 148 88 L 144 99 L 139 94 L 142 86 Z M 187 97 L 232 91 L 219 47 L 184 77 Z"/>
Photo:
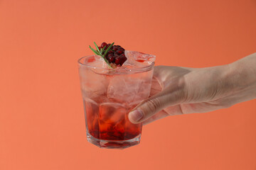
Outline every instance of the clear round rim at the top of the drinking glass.
<path fill-rule="evenodd" d="M 94 67 L 90 64 L 84 64 L 81 62 L 82 59 L 86 58 L 86 57 L 92 57 L 92 56 L 100 56 L 100 55 L 86 55 L 84 57 L 80 57 L 80 59 L 78 59 L 78 64 L 85 66 L 85 67 L 90 67 L 92 69 L 103 69 L 103 70 L 117 70 L 117 69 L 111 69 L 111 68 L 102 68 L 102 67 Z M 151 69 L 153 69 L 155 62 L 151 62 L 151 64 L 145 66 L 145 67 L 137 67 L 137 68 L 130 68 L 130 69 L 118 69 L 118 72 L 144 72 L 144 71 L 149 71 Z"/>

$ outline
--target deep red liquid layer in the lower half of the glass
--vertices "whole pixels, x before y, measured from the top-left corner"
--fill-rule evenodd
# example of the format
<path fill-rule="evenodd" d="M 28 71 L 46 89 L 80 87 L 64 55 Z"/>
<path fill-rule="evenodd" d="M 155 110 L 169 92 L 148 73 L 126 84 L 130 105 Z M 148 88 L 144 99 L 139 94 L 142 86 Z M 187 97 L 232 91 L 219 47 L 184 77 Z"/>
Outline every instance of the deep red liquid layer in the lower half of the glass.
<path fill-rule="evenodd" d="M 142 132 L 142 124 L 134 125 L 128 120 L 128 114 L 131 108 L 113 103 L 102 103 L 100 107 L 93 101 L 84 99 L 86 110 L 87 130 L 100 140 L 113 140 L 114 144 L 120 145 L 118 141 L 132 140 Z M 122 146 L 125 146 L 124 144 Z"/>

